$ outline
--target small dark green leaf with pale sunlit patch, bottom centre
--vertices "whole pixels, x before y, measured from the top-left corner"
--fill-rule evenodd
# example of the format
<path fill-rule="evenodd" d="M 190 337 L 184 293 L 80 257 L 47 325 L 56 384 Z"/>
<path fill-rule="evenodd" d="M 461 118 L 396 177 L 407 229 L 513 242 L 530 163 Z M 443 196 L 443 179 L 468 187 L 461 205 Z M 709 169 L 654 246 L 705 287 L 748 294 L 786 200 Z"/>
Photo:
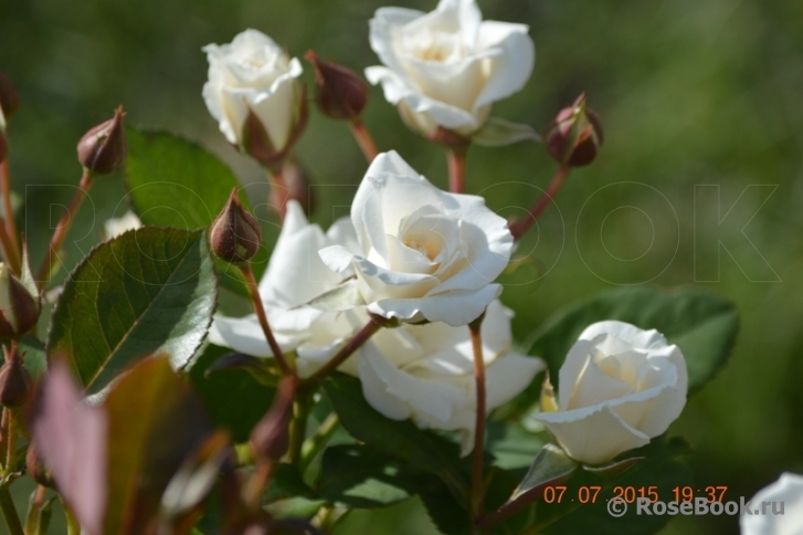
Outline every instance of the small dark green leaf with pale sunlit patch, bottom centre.
<path fill-rule="evenodd" d="M 317 495 L 350 507 L 383 507 L 410 497 L 403 466 L 361 444 L 327 448 L 324 452 Z"/>

